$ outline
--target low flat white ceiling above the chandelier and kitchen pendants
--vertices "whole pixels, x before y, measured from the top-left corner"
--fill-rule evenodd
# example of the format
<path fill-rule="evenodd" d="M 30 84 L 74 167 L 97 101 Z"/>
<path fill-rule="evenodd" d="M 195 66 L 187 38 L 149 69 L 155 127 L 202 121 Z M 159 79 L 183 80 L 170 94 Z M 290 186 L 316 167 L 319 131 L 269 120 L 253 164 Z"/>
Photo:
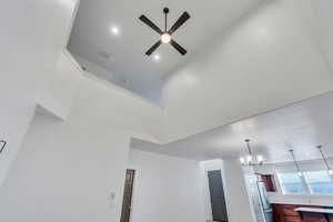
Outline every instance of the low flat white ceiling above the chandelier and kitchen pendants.
<path fill-rule="evenodd" d="M 246 153 L 243 141 L 249 138 L 266 162 L 291 161 L 291 147 L 299 160 L 319 159 L 317 144 L 333 157 L 332 113 L 330 92 L 165 145 L 133 140 L 132 148 L 196 160 L 234 158 Z"/>

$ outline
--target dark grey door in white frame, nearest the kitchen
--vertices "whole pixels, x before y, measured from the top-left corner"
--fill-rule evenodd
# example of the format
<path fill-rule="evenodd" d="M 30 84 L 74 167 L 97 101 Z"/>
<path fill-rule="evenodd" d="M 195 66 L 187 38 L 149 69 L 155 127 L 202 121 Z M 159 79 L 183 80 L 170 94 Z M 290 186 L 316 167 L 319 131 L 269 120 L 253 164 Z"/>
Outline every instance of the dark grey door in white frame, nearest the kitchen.
<path fill-rule="evenodd" d="M 221 170 L 208 171 L 213 221 L 228 222 Z"/>

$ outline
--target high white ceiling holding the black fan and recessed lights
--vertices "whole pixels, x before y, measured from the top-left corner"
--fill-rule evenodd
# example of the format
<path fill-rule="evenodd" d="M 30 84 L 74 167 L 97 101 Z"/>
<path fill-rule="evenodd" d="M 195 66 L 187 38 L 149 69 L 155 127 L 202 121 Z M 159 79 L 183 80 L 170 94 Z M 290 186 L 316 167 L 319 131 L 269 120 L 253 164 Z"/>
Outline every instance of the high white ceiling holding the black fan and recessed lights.
<path fill-rule="evenodd" d="M 109 70 L 110 75 L 123 81 L 127 89 L 157 100 L 162 79 L 169 72 L 218 34 L 222 34 L 224 29 L 259 2 L 260 0 L 81 0 L 69 49 L 73 54 Z M 143 13 L 162 27 L 162 9 L 165 6 L 170 8 L 169 23 L 173 23 L 185 10 L 192 17 L 173 36 L 189 53 L 182 57 L 171 46 L 161 46 L 157 50 L 161 61 L 155 62 L 144 52 L 159 36 L 138 18 Z M 119 27 L 120 36 L 111 34 L 112 26 Z M 110 58 L 105 59 L 101 53 L 108 53 Z M 104 78 L 117 82 L 111 77 Z"/>

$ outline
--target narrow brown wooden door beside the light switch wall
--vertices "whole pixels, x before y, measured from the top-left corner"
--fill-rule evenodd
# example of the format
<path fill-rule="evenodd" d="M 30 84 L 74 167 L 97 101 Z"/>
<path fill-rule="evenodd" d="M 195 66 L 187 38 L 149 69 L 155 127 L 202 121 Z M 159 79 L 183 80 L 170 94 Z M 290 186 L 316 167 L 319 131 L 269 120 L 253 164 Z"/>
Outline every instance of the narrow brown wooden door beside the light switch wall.
<path fill-rule="evenodd" d="M 135 170 L 127 170 L 120 222 L 130 222 Z"/>

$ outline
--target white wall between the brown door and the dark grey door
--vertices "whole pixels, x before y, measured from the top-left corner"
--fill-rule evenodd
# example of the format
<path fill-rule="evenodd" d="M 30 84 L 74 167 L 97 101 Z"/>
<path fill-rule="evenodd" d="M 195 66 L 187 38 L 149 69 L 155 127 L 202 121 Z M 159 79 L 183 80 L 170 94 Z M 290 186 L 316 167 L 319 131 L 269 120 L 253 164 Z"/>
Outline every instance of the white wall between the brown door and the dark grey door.
<path fill-rule="evenodd" d="M 137 170 L 132 222 L 204 222 L 204 199 L 196 161 L 131 150 Z"/>

